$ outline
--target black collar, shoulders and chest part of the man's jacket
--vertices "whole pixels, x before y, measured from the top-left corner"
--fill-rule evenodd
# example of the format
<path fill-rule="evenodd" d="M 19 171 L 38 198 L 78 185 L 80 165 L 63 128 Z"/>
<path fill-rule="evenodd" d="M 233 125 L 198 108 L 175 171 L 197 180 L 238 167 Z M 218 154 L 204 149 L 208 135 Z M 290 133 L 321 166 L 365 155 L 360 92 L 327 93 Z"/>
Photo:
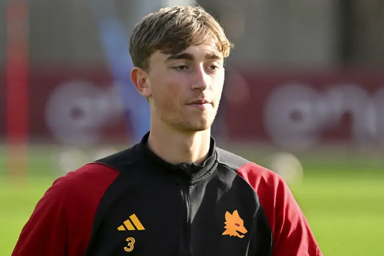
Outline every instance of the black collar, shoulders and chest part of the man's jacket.
<path fill-rule="evenodd" d="M 258 195 L 236 172 L 247 160 L 211 139 L 200 166 L 173 165 L 146 146 L 147 138 L 97 161 L 120 175 L 100 202 L 86 255 L 271 255 L 272 233 Z M 242 238 L 223 235 L 226 212 L 235 210 L 247 229 Z M 145 230 L 118 230 L 133 214 Z M 133 250 L 126 251 L 130 239 Z"/>

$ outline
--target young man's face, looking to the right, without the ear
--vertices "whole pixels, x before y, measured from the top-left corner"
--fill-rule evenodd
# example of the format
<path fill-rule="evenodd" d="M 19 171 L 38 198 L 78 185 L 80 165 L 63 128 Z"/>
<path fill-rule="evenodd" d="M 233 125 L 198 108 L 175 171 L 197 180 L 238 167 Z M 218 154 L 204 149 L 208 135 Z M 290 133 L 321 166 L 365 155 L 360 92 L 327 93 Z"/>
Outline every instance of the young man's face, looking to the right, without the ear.
<path fill-rule="evenodd" d="M 147 84 L 154 121 L 160 119 L 183 132 L 207 130 L 223 90 L 223 56 L 208 41 L 176 55 L 156 51 Z"/>

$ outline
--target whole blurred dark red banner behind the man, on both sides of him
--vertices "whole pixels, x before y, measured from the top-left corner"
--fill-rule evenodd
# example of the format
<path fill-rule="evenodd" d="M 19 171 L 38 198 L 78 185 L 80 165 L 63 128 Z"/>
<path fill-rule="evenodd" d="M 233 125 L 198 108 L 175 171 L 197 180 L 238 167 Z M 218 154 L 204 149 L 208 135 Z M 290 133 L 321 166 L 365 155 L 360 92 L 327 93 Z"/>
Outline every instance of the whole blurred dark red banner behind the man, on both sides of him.
<path fill-rule="evenodd" d="M 232 141 L 290 148 L 333 141 L 384 145 L 380 70 L 250 70 L 229 74 L 226 81 L 223 110 Z M 105 67 L 34 69 L 29 84 L 32 141 L 92 145 L 128 137 L 121 98 Z M 1 103 L 1 136 L 3 107 Z"/>

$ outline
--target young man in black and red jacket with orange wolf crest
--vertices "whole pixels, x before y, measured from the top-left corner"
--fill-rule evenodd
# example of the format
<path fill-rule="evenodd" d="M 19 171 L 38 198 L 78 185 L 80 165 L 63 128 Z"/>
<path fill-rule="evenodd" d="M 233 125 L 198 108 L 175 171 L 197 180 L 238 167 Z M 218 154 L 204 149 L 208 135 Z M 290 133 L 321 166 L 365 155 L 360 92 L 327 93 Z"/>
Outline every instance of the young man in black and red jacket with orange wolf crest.
<path fill-rule="evenodd" d="M 131 78 L 150 133 L 56 180 L 13 255 L 321 255 L 284 181 L 210 137 L 231 47 L 199 7 L 144 17 Z"/>

